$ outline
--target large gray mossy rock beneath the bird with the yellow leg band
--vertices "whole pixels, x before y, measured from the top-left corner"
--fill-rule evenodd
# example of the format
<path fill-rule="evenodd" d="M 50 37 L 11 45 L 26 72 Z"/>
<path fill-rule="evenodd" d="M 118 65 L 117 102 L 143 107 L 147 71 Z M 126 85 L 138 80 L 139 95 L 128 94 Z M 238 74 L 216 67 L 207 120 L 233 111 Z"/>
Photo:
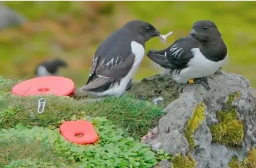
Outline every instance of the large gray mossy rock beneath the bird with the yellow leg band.
<path fill-rule="evenodd" d="M 154 78 L 156 80 L 159 78 L 170 79 L 170 76 L 159 74 L 150 77 L 150 81 L 154 81 Z M 177 99 L 164 108 L 163 118 L 159 120 L 155 131 L 152 131 L 154 134 L 150 132 L 143 137 L 142 142 L 150 144 L 153 150 L 163 148 L 172 155 L 187 153 L 189 145 L 184 137 L 184 128 L 193 115 L 196 104 L 203 101 L 205 119 L 195 131 L 193 137 L 195 148 L 190 150 L 196 160 L 196 167 L 228 167 L 227 164 L 233 155 L 237 155 L 239 160 L 243 160 L 250 148 L 256 146 L 256 115 L 255 100 L 253 99 L 256 92 L 250 88 L 250 82 L 239 74 L 221 71 L 221 73 L 212 74 L 211 78 L 208 78 L 209 86 L 212 88 L 209 92 L 202 85 L 180 85 L 173 80 L 168 80 L 171 87 L 179 88 L 179 90 L 183 88 L 183 90 L 179 91 Z M 237 109 L 239 119 L 244 123 L 244 139 L 239 148 L 231 148 L 212 142 L 209 126 L 218 123 L 216 112 L 227 108 L 228 96 L 236 91 L 240 95 L 232 101 L 232 106 Z"/>

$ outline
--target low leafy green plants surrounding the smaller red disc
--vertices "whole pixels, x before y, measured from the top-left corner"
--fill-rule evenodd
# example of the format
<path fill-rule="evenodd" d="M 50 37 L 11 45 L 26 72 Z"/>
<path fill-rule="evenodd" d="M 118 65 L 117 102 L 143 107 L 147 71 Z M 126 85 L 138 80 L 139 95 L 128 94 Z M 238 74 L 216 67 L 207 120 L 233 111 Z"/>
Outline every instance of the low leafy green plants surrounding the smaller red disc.
<path fill-rule="evenodd" d="M 26 167 L 32 164 L 40 167 L 43 164 L 45 167 L 152 167 L 157 164 L 155 153 L 150 151 L 147 144 L 136 142 L 131 137 L 123 137 L 122 130 L 116 129 L 109 120 L 83 119 L 90 120 L 95 125 L 99 135 L 97 143 L 72 144 L 60 135 L 58 129 L 29 129 L 21 124 L 12 129 L 2 129 L 1 166 L 24 164 Z M 17 141 L 19 139 L 22 141 Z M 67 164 L 62 160 L 66 160 Z"/>

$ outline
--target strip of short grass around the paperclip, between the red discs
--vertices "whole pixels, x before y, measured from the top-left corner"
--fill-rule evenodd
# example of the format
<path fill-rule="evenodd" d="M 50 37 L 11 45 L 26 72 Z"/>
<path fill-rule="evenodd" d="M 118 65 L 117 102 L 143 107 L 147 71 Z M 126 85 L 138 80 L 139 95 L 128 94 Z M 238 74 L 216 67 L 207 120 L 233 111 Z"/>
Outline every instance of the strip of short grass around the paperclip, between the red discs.
<path fill-rule="evenodd" d="M 2 87 L 1 87 L 2 86 Z M 12 85 L 0 90 L 9 90 Z M 18 123 L 23 125 L 38 125 L 40 127 L 59 127 L 63 120 L 73 115 L 105 116 L 115 125 L 125 130 L 127 136 L 135 139 L 147 134 L 156 126 L 163 114 L 163 109 L 147 101 L 138 101 L 128 95 L 122 97 L 107 97 L 99 102 L 82 102 L 70 97 L 47 95 L 45 111 L 38 114 L 37 102 L 40 97 L 20 97 L 3 93 L 0 101 L 0 127 L 7 129 Z"/>

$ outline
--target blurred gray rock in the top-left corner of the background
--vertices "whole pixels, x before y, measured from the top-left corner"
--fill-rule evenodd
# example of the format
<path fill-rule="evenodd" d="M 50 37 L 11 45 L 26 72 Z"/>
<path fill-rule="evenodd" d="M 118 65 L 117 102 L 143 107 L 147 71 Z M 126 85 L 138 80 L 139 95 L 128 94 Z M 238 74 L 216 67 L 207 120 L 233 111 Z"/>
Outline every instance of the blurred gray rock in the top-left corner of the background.
<path fill-rule="evenodd" d="M 20 25 L 24 21 L 26 18 L 0 3 L 0 30 L 13 25 Z"/>

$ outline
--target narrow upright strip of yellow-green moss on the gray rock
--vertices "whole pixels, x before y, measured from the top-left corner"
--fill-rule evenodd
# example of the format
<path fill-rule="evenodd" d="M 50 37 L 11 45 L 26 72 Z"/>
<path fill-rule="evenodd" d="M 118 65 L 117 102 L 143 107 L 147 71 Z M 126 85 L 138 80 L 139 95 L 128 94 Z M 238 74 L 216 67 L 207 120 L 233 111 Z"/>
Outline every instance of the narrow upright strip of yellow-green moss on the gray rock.
<path fill-rule="evenodd" d="M 189 149 L 194 148 L 195 140 L 193 139 L 195 130 L 198 129 L 199 125 L 203 122 L 205 118 L 205 104 L 201 102 L 198 106 L 195 107 L 193 111 L 193 116 L 188 120 L 188 124 L 186 125 L 184 132 L 185 137 L 189 143 Z"/>

